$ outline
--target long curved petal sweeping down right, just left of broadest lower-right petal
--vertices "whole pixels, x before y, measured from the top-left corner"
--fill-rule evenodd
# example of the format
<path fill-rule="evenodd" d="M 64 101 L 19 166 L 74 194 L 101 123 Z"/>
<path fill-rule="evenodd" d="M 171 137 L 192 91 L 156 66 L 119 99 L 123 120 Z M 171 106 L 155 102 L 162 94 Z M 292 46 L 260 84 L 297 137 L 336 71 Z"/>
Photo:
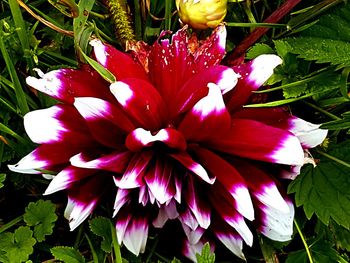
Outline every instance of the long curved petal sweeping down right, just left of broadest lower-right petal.
<path fill-rule="evenodd" d="M 203 148 L 193 148 L 196 157 L 205 164 L 206 169 L 217 178 L 234 199 L 235 209 L 249 220 L 254 219 L 254 207 L 244 178 L 228 162 Z"/>

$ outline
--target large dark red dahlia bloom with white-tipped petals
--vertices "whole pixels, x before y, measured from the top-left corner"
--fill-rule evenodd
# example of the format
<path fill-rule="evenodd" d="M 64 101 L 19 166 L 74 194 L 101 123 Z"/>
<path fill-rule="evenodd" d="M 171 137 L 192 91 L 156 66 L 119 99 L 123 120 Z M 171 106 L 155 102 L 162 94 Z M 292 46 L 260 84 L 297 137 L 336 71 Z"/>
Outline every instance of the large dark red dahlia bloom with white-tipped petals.
<path fill-rule="evenodd" d="M 150 228 L 178 220 L 183 252 L 195 260 L 203 243 L 219 240 L 244 258 L 255 226 L 278 241 L 291 238 L 294 208 L 278 178 L 294 177 L 304 152 L 327 131 L 282 108 L 243 108 L 281 64 L 261 55 L 235 67 L 220 65 L 226 30 L 205 41 L 183 28 L 133 55 L 93 40 L 93 57 L 117 81 L 88 66 L 28 77 L 57 99 L 30 112 L 24 126 L 40 144 L 10 169 L 54 171 L 45 194 L 65 190 L 71 230 L 115 193 L 118 241 L 135 255 Z"/>

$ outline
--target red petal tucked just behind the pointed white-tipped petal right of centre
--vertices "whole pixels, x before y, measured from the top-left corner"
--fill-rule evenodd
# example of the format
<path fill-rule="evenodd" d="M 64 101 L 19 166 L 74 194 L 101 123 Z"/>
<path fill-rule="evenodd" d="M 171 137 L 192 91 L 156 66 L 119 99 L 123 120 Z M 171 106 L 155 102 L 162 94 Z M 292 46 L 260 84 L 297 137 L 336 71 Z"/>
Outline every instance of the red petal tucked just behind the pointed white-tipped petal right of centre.
<path fill-rule="evenodd" d="M 191 109 L 200 99 L 208 95 L 208 83 L 214 83 L 221 93 L 233 89 L 237 84 L 238 75 L 233 69 L 225 66 L 214 66 L 200 71 L 190 78 L 171 101 L 172 114 L 181 114 Z"/>

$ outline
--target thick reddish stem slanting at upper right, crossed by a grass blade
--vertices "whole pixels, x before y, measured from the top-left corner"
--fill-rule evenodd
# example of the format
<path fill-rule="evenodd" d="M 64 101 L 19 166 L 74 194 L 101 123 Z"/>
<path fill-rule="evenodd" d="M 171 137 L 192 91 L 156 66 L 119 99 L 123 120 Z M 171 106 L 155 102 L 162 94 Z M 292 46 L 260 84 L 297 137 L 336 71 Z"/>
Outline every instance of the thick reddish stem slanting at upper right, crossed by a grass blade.
<path fill-rule="evenodd" d="M 264 23 L 278 23 L 284 16 L 286 16 L 301 0 L 286 0 L 277 10 L 275 10 Z M 270 28 L 259 27 L 251 32 L 243 41 L 228 55 L 226 61 L 229 65 L 236 64 L 235 61 L 241 60 L 240 57 L 250 48 L 256 41 L 258 41 Z"/>

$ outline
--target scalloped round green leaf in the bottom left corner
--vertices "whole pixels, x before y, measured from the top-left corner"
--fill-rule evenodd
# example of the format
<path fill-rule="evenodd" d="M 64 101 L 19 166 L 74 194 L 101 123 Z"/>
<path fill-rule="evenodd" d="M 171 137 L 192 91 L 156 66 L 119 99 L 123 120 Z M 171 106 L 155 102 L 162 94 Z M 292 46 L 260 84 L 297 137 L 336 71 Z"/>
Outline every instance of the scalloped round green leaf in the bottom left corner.
<path fill-rule="evenodd" d="M 35 243 L 33 231 L 27 226 L 19 227 L 15 233 L 6 232 L 0 235 L 0 250 L 5 252 L 2 257 L 7 258 L 10 263 L 28 260 Z"/>

